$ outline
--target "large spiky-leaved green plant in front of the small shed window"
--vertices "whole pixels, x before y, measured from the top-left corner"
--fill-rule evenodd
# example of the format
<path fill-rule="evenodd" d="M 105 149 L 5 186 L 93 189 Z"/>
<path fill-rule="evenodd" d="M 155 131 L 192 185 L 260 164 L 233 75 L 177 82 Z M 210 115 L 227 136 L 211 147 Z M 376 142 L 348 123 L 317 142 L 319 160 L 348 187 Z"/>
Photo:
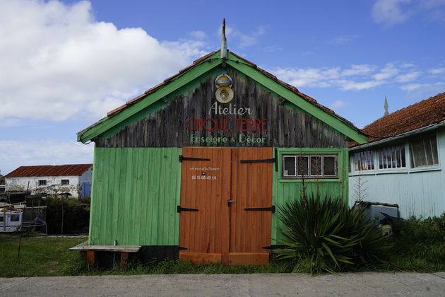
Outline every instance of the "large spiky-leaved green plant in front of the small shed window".
<path fill-rule="evenodd" d="M 374 222 L 364 222 L 364 209 L 348 208 L 341 199 L 319 196 L 287 202 L 278 209 L 285 226 L 285 248 L 274 250 L 292 272 L 340 272 L 385 262 L 391 243 Z"/>

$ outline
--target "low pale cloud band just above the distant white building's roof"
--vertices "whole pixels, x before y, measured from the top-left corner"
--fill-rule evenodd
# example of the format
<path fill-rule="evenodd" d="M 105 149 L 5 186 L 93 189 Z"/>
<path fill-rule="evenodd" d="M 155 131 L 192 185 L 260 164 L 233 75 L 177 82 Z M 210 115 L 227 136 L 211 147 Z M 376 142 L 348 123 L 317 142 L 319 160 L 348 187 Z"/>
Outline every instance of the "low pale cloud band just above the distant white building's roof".
<path fill-rule="evenodd" d="M 94 144 L 52 140 L 0 140 L 0 170 L 6 175 L 21 165 L 93 163 Z"/>

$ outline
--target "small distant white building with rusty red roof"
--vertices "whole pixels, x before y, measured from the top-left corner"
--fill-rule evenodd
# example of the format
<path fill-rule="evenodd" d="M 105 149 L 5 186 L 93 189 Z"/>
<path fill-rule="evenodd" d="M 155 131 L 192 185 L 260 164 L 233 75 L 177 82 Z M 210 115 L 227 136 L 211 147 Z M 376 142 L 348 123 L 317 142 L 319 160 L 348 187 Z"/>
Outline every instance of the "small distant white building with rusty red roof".
<path fill-rule="evenodd" d="M 89 197 L 93 164 L 20 166 L 5 175 L 6 191 Z"/>

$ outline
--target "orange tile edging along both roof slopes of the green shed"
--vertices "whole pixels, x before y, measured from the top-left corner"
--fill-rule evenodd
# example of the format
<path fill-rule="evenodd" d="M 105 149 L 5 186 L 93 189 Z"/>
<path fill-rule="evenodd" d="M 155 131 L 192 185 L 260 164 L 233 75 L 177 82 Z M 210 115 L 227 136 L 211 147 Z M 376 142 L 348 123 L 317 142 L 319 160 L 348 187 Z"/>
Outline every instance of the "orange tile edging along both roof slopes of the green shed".
<path fill-rule="evenodd" d="M 196 64 L 202 62 L 203 60 L 207 59 L 208 57 L 210 57 L 211 55 L 215 54 L 216 52 L 210 52 L 208 54 L 206 54 L 205 56 L 196 59 L 193 64 L 186 66 L 186 68 L 181 69 L 179 71 L 179 73 L 175 74 L 174 76 L 170 76 L 170 78 L 165 79 L 165 81 L 162 81 L 162 83 L 158 84 L 157 86 L 154 86 L 153 88 L 148 89 L 148 91 L 146 91 L 145 93 L 138 95 L 136 98 L 133 98 L 129 101 L 127 101 L 124 105 L 121 105 L 119 107 L 117 107 L 116 109 L 110 111 L 107 113 L 107 116 L 112 116 L 115 113 L 124 110 L 126 107 L 129 107 L 130 105 L 133 105 L 134 103 L 138 102 L 138 100 L 141 100 L 142 98 L 146 97 L 146 95 L 153 93 L 153 91 L 157 90 L 158 88 L 160 88 L 161 86 L 166 85 L 167 83 L 170 83 L 170 81 L 172 81 L 172 79 L 174 79 L 176 76 L 178 76 L 179 74 L 182 74 L 184 71 L 189 70 L 191 67 L 195 66 Z M 251 67 L 253 67 L 254 69 L 260 71 L 262 74 L 268 76 L 269 78 L 273 79 L 273 81 L 276 81 L 277 83 L 280 83 L 282 86 L 284 86 L 285 88 L 287 88 L 288 90 L 292 91 L 293 93 L 296 93 L 297 95 L 299 95 L 301 98 L 303 98 L 304 100 L 307 100 L 309 103 L 312 103 L 313 105 L 315 105 L 316 107 L 319 107 L 321 110 L 324 110 L 325 112 L 328 112 L 329 114 L 333 115 L 334 117 L 337 117 L 339 120 L 345 122 L 346 124 L 348 124 L 350 127 L 352 127 L 353 129 L 357 130 L 360 132 L 360 129 L 358 129 L 357 127 L 354 126 L 354 124 L 352 124 L 352 122 L 349 122 L 348 120 L 346 120 L 344 117 L 340 117 L 340 115 L 337 115 L 333 110 L 329 109 L 328 107 L 321 105 L 320 103 L 317 103 L 316 100 L 314 98 L 309 97 L 308 95 L 301 93 L 300 91 L 298 91 L 297 88 L 295 88 L 295 86 L 291 86 L 289 83 L 285 83 L 284 81 L 280 81 L 276 76 L 274 76 L 273 74 L 269 73 L 266 70 L 263 70 L 261 68 L 259 68 L 258 66 L 256 66 L 256 64 L 248 61 L 247 59 L 244 59 L 243 57 L 235 54 L 234 52 L 230 52 L 231 54 L 233 54 L 235 57 L 237 57 L 238 59 L 241 59 L 243 62 L 246 62 L 247 64 L 249 64 Z"/>

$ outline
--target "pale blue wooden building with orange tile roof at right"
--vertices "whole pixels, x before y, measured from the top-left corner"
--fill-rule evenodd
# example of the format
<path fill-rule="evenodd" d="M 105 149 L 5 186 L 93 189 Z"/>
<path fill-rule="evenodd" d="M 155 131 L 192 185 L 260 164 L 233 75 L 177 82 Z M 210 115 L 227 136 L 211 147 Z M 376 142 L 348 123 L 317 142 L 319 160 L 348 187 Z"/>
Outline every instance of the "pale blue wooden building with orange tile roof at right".
<path fill-rule="evenodd" d="M 404 218 L 444 213 L 445 93 L 381 117 L 362 132 L 369 143 L 350 148 L 350 203 L 398 204 Z"/>

